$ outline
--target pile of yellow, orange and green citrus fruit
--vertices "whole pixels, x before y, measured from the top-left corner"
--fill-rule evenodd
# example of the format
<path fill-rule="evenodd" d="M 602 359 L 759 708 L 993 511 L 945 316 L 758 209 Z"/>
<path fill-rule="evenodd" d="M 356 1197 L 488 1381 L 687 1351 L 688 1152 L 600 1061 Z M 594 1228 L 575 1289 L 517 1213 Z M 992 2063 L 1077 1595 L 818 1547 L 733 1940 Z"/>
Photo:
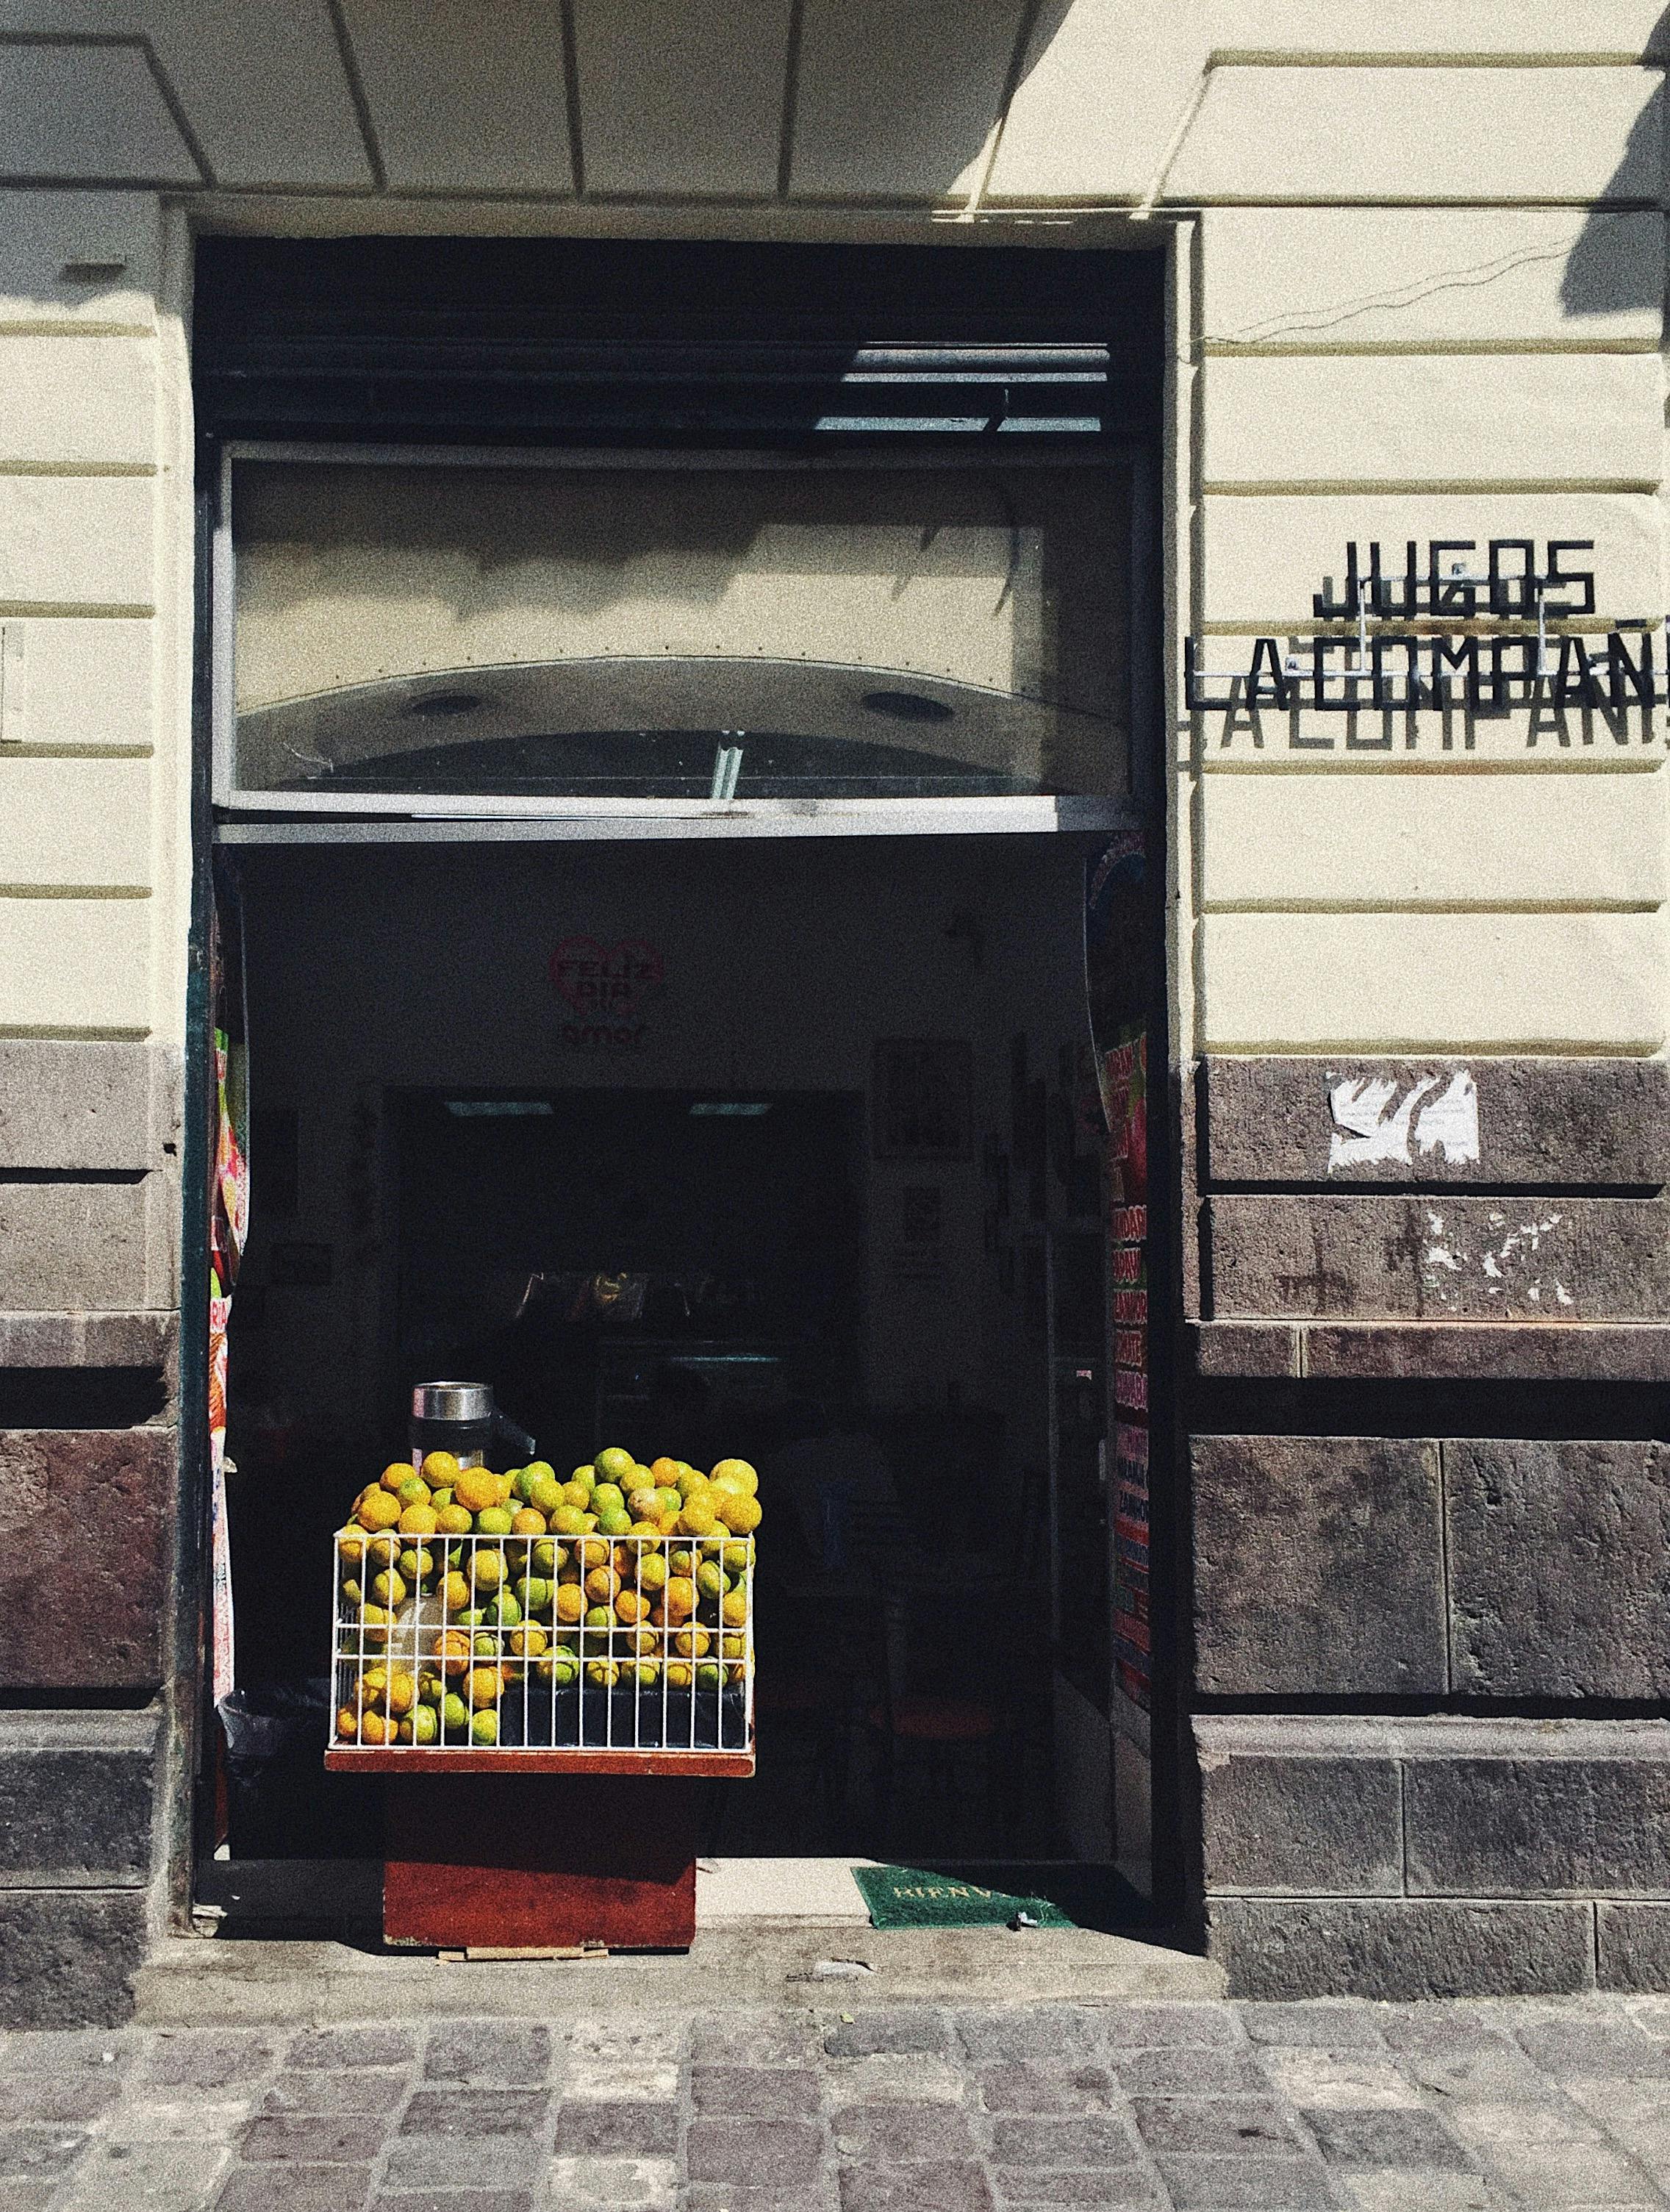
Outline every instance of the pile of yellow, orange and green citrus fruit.
<path fill-rule="evenodd" d="M 336 1741 L 500 1743 L 557 1692 L 741 1688 L 759 1475 L 610 1447 L 566 1482 L 431 1451 L 385 1467 L 336 1531 Z"/>

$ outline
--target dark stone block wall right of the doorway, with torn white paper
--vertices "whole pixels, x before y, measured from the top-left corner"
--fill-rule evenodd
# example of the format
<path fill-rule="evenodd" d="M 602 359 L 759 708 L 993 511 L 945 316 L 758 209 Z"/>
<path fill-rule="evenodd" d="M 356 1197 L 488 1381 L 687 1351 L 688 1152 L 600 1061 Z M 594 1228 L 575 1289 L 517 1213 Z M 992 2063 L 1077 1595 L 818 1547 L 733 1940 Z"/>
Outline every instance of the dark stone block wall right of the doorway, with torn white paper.
<path fill-rule="evenodd" d="M 1409 1146 L 1340 1159 L 1365 1084 L 1396 1119 L 1462 1073 L 1467 1144 L 1422 1157 L 1416 1106 Z M 1194 1332 L 1190 1725 L 1239 1991 L 1666 1986 L 1663 1086 L 1652 1062 L 1205 1062 L 1223 1318 Z M 1245 1298 L 1210 1234 L 1225 1183 L 1287 1206 L 1312 1265 Z M 1212 1433 L 1236 1409 L 1261 1420 Z"/>

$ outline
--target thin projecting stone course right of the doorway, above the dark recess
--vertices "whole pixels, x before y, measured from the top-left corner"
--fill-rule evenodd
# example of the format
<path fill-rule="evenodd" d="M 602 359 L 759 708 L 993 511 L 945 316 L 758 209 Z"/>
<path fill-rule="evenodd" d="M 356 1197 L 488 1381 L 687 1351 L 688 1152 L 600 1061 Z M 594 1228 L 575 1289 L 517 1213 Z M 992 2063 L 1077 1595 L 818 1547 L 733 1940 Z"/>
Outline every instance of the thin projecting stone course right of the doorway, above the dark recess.
<path fill-rule="evenodd" d="M 1670 1383 L 1652 1321 L 1192 1321 L 1194 1371 L 1292 1380 Z"/>

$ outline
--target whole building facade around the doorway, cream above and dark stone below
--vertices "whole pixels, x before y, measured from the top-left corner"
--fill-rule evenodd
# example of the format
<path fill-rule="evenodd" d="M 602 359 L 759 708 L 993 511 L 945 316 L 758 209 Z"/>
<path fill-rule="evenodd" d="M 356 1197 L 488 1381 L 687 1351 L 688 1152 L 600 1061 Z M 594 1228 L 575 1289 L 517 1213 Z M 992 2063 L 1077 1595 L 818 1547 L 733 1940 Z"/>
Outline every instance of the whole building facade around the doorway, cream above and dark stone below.
<path fill-rule="evenodd" d="M 2 22 L 7 2017 L 190 1924 L 208 237 L 1159 257 L 1155 1858 L 1243 1993 L 1670 1986 L 1670 18 Z"/>

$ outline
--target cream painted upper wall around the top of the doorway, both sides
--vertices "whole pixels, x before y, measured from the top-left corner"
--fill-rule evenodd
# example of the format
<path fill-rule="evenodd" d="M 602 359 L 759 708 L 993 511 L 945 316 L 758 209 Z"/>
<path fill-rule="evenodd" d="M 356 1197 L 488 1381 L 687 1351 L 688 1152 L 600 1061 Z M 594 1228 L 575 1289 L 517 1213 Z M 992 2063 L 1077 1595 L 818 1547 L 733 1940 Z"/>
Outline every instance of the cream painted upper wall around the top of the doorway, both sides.
<path fill-rule="evenodd" d="M 960 246 L 1183 226 L 1172 684 L 1190 630 L 1236 666 L 1252 635 L 1305 624 L 1351 538 L 1593 538 L 1601 617 L 1670 604 L 1657 0 L 1557 18 L 1411 0 L 1396 22 L 1347 0 L 1179 0 L 1159 27 L 1139 0 L 807 0 L 794 58 L 772 0 L 692 0 L 633 38 L 577 7 L 573 46 L 511 7 L 491 128 L 429 97 L 469 66 L 431 11 L 349 0 L 338 18 L 0 0 L 24 40 L 7 66 L 51 91 L 11 104 L 27 131 L 0 155 L 18 179 L 0 201 L 0 1033 L 179 1029 L 192 221 Z M 1663 717 L 1626 743 L 1593 714 L 1469 743 L 1438 717 L 1190 723 L 1172 695 L 1172 721 L 1186 1042 L 1321 1051 L 1382 1022 L 1411 1046 L 1661 1046 Z M 1486 911 L 1500 973 L 1469 1022 L 1462 947 Z M 1287 927 L 1294 958 L 1263 973 Z M 1363 980 L 1369 945 L 1396 1004 Z M 1586 1024 L 1562 978 L 1579 945 Z"/>

